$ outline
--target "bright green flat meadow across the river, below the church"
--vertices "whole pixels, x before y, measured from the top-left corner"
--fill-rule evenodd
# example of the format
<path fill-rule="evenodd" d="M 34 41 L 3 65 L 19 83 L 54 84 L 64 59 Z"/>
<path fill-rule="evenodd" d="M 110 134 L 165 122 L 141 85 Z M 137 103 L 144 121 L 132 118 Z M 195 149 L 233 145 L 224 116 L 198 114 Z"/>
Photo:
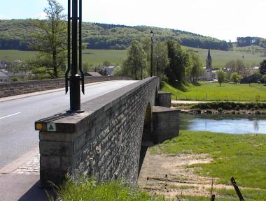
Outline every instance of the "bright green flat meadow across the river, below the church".
<path fill-rule="evenodd" d="M 199 85 L 199 86 L 198 86 Z M 172 93 L 172 100 L 186 101 L 266 101 L 264 84 L 228 84 L 205 82 L 187 84 L 176 89 L 166 82 L 162 83 L 162 91 Z"/>

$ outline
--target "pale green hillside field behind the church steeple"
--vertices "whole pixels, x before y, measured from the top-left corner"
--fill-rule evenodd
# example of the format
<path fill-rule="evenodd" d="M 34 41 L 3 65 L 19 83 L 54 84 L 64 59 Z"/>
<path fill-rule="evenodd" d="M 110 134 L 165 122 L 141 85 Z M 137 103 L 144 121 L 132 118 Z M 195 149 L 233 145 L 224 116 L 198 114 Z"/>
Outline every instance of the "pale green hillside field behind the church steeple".
<path fill-rule="evenodd" d="M 186 50 L 193 50 L 195 54 L 198 54 L 200 56 L 200 59 L 202 60 L 202 65 L 206 66 L 206 59 L 208 55 L 207 49 L 186 46 L 183 46 L 183 48 L 185 48 Z M 266 59 L 266 57 L 261 57 L 261 54 L 252 54 L 249 51 L 239 50 L 243 50 L 243 48 L 241 49 L 241 47 L 239 47 L 239 49 L 234 51 L 211 50 L 212 67 L 223 68 L 225 64 L 228 63 L 228 61 L 235 59 L 243 59 L 243 56 L 244 64 L 248 67 L 258 66 L 263 59 Z"/>

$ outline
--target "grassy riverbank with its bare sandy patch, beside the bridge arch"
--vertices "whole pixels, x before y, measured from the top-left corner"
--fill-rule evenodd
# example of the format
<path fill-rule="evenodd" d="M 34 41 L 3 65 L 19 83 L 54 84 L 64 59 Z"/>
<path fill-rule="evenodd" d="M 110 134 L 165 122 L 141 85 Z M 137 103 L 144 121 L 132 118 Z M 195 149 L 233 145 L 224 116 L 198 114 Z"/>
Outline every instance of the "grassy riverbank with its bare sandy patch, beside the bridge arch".
<path fill-rule="evenodd" d="M 245 200 L 266 200 L 266 135 L 180 131 L 179 137 L 158 144 L 150 151 L 151 157 L 158 161 L 155 163 L 161 165 L 161 156 L 160 160 L 164 160 L 162 167 L 168 167 L 168 170 L 163 169 L 169 173 L 168 191 L 161 190 L 162 195 L 173 195 L 173 192 L 180 195 L 183 192 L 183 195 L 198 196 L 197 199 L 188 200 L 207 200 L 199 196 L 209 198 L 211 179 L 214 179 L 217 200 L 237 200 L 237 194 L 230 184 L 230 177 L 233 176 Z M 167 157 L 168 161 L 164 159 Z M 171 163 L 175 171 L 168 166 Z M 152 175 L 150 177 L 154 178 Z M 157 179 L 157 186 L 159 181 Z M 153 181 L 149 182 L 152 184 Z M 150 185 L 147 189 L 153 187 Z"/>

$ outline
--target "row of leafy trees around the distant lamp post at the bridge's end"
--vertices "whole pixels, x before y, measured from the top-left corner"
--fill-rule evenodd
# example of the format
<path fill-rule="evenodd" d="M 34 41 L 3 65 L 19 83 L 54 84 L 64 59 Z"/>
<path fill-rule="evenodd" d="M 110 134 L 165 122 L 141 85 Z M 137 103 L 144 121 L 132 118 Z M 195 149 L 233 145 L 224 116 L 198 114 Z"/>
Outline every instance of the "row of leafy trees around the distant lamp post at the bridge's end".
<path fill-rule="evenodd" d="M 123 66 L 116 70 L 116 75 L 127 75 L 135 80 L 148 77 L 153 62 L 153 75 L 167 77 L 172 84 L 183 84 L 187 80 L 196 80 L 202 74 L 202 61 L 193 52 L 181 48 L 174 40 L 157 42 L 154 45 L 151 61 L 151 40 L 134 40 L 127 52 Z"/>

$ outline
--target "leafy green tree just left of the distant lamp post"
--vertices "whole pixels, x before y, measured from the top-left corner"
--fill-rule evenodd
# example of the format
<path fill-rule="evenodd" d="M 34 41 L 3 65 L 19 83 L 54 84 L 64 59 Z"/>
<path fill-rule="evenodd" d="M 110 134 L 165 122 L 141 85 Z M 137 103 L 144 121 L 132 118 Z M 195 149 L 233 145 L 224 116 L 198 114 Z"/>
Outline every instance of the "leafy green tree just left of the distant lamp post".
<path fill-rule="evenodd" d="M 141 43 L 134 40 L 127 52 L 127 59 L 123 62 L 123 68 L 120 73 L 122 75 L 134 77 L 135 80 L 142 80 L 148 75 L 146 68 L 146 53 L 144 52 Z"/>

